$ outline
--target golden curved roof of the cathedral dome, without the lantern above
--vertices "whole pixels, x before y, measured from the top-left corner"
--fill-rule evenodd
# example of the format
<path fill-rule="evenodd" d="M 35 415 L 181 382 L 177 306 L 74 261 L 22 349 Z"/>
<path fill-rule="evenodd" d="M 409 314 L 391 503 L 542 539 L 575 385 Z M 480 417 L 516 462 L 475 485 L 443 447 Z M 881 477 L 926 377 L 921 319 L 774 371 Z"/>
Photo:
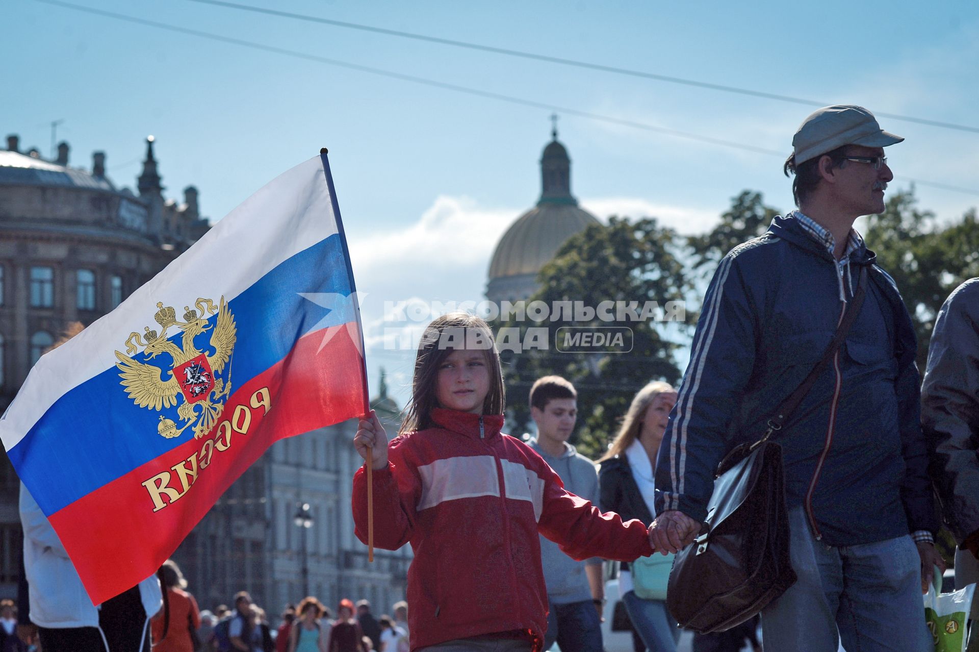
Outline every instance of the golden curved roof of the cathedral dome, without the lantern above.
<path fill-rule="evenodd" d="M 489 279 L 534 274 L 557 254 L 571 236 L 598 220 L 571 204 L 541 202 L 506 230 L 489 262 Z"/>

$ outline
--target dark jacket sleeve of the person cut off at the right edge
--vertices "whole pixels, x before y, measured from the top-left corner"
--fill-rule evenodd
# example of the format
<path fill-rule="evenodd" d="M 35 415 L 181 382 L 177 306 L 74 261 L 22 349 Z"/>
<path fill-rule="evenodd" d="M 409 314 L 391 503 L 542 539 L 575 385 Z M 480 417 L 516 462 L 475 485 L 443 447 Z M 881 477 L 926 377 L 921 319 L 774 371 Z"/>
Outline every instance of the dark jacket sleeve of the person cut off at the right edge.
<path fill-rule="evenodd" d="M 938 313 L 921 399 L 929 471 L 960 542 L 979 530 L 979 279 L 959 286 Z"/>

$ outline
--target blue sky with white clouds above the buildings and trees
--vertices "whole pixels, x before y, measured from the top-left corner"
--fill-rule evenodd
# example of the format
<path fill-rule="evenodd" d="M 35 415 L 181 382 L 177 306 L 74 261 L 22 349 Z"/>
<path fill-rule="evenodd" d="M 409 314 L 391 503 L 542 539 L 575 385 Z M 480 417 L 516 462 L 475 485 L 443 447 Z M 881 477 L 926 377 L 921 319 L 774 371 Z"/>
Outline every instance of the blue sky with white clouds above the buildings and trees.
<path fill-rule="evenodd" d="M 647 70 L 872 111 L 979 126 L 979 10 L 973 3 L 330 2 L 241 0 L 350 23 Z M 811 108 L 461 50 L 189 0 L 77 0 L 142 19 L 352 64 L 631 119 L 788 154 Z M 480 299 L 492 245 L 536 202 L 550 111 L 501 103 L 122 23 L 35 0 L 0 8 L 0 130 L 70 163 L 107 153 L 135 185 L 148 134 L 170 197 L 184 186 L 218 219 L 285 169 L 330 149 L 358 289 L 367 295 L 372 385 L 406 383 L 410 351 L 384 350 L 383 303 Z M 979 133 L 881 118 L 907 137 L 896 174 L 979 192 Z M 742 189 L 791 205 L 777 157 L 562 116 L 585 208 L 710 227 Z M 943 218 L 972 194 L 918 186 Z M 872 247 L 872 243 L 871 243 Z M 374 343 L 374 344 L 370 344 Z M 398 391 L 403 396 L 403 391 Z"/>

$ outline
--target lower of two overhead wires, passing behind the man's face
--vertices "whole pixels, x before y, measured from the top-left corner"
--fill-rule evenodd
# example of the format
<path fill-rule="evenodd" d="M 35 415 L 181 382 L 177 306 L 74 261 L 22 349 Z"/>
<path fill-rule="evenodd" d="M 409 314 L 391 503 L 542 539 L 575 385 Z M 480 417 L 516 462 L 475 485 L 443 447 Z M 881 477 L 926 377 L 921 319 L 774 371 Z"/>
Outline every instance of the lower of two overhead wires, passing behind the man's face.
<path fill-rule="evenodd" d="M 684 138 L 687 140 L 694 140 L 701 143 L 706 143 L 708 145 L 718 145 L 722 147 L 727 147 L 731 149 L 742 150 L 746 152 L 752 152 L 755 154 L 765 154 L 767 156 L 774 156 L 779 158 L 785 158 L 787 155 L 785 152 L 779 152 L 776 150 L 769 150 L 764 147 L 756 147 L 754 145 L 748 145 L 745 143 L 737 143 L 729 140 L 724 140 L 722 138 L 714 138 L 712 136 L 704 136 L 702 134 L 691 133 L 688 131 L 679 131 L 677 129 L 671 129 L 668 127 L 663 127 L 655 124 L 649 124 L 647 122 L 639 122 L 637 120 L 630 120 L 627 118 L 616 117 L 616 116 L 604 116 L 601 114 L 595 114 L 592 112 L 581 111 L 578 109 L 571 109 L 569 107 L 562 107 L 555 104 L 549 104 L 546 102 L 537 102 L 535 100 L 527 100 L 524 98 L 514 97 L 512 95 L 504 95 L 502 93 L 494 93 L 492 91 L 486 91 L 479 88 L 471 88 L 469 86 L 462 86 L 459 84 L 452 84 L 443 81 L 438 81 L 436 79 L 428 79 L 426 77 L 419 77 L 412 74 L 405 74 L 402 72 L 395 72 L 392 70 L 383 70 L 379 68 L 372 68 L 369 66 L 361 66 L 359 64 L 351 64 L 350 62 L 340 61 L 337 59 L 329 59 L 327 57 L 320 57 L 318 55 L 311 55 L 305 52 L 300 52 L 297 50 L 290 50 L 287 48 L 280 48 L 274 45 L 265 45 L 264 43 L 257 43 L 256 41 L 249 41 L 241 38 L 235 38 L 232 36 L 225 36 L 223 34 L 215 34 L 209 31 L 202 31 L 200 29 L 191 29 L 189 27 L 182 27 L 179 25 L 169 24 L 169 23 L 159 23 L 157 21 L 150 21 L 147 19 L 136 18 L 134 16 L 127 16 L 125 14 L 117 14 L 115 12 L 109 12 L 102 9 L 95 9 L 93 7 L 85 7 L 83 5 L 75 5 L 70 2 L 63 2 L 62 0 L 34 0 L 35 2 L 40 2 L 42 4 L 54 5 L 57 7 L 65 7 L 67 9 L 72 9 L 75 11 L 83 12 L 86 14 L 92 14 L 95 16 L 103 16 L 106 18 L 116 19 L 118 21 L 124 21 L 127 23 L 137 23 L 143 24 L 151 27 L 157 27 L 159 29 L 165 29 L 167 31 L 173 31 L 182 34 L 189 34 L 191 36 L 198 36 L 200 38 L 206 38 L 214 41 L 219 41 L 222 43 L 230 43 L 232 45 L 239 45 L 246 48 L 252 48 L 255 50 L 261 50 L 263 52 L 271 52 L 273 54 L 279 54 L 287 57 L 295 57 L 298 59 L 304 59 L 306 61 L 311 61 L 319 64 L 326 64 L 329 66 L 336 66 L 338 68 L 346 68 L 349 70 L 358 70 L 361 72 L 368 72 L 371 74 L 376 74 L 384 77 L 389 77 L 393 79 L 400 79 L 402 81 L 410 81 L 412 83 L 422 84 L 425 86 L 431 86 L 434 88 L 441 88 L 443 90 L 450 90 L 457 93 L 465 93 L 468 95 L 474 95 L 477 97 L 488 98 L 492 100 L 498 100 L 500 102 L 507 102 L 510 104 L 516 104 L 524 107 L 531 107 L 534 109 L 545 109 L 551 112 L 558 112 L 565 114 L 567 116 L 579 116 L 588 119 L 598 120 L 610 124 L 618 124 L 621 126 L 627 126 L 633 129 L 642 129 L 644 131 L 651 131 L 654 133 L 662 133 L 668 136 L 674 136 L 676 138 Z M 923 186 L 933 186 L 935 188 L 940 188 L 943 190 L 952 190 L 955 192 L 966 193 L 969 195 L 979 196 L 979 190 L 973 190 L 970 188 L 961 188 L 958 186 L 951 186 L 943 183 L 935 183 L 931 181 L 923 181 L 921 179 L 911 179 L 909 177 L 904 178 L 912 183 L 916 183 Z"/>

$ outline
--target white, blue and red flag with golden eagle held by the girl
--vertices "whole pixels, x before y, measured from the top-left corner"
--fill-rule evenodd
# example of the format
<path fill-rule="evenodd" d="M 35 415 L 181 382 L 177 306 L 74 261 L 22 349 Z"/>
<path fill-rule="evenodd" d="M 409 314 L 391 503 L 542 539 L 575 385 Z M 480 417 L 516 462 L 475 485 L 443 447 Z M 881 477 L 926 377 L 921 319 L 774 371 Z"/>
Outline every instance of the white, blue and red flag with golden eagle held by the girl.
<path fill-rule="evenodd" d="M 43 355 L 0 438 L 99 604 L 156 572 L 272 442 L 367 406 L 324 151 Z"/>

